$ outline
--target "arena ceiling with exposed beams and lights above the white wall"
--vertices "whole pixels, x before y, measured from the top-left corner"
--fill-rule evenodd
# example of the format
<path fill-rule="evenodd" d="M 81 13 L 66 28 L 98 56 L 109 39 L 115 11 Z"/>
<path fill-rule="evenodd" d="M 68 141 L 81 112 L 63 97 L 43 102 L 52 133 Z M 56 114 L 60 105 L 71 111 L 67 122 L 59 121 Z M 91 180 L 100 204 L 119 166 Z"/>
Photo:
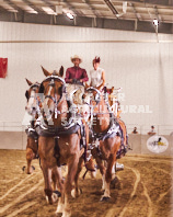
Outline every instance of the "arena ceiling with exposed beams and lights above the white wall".
<path fill-rule="evenodd" d="M 173 34 L 173 0 L 0 0 L 0 21 L 157 32 L 154 19 Z"/>

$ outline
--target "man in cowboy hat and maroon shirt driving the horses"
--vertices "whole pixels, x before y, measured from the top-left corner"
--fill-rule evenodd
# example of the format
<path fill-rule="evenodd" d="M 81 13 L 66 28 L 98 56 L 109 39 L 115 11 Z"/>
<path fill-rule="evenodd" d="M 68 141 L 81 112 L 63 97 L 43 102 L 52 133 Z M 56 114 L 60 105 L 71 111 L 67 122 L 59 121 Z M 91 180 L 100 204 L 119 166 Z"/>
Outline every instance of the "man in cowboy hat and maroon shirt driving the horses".
<path fill-rule="evenodd" d="M 67 69 L 65 81 L 67 83 L 83 84 L 83 82 L 86 82 L 89 78 L 85 69 L 79 67 L 79 65 L 82 62 L 82 59 L 78 55 L 74 55 L 71 57 L 71 61 L 74 66 Z"/>

